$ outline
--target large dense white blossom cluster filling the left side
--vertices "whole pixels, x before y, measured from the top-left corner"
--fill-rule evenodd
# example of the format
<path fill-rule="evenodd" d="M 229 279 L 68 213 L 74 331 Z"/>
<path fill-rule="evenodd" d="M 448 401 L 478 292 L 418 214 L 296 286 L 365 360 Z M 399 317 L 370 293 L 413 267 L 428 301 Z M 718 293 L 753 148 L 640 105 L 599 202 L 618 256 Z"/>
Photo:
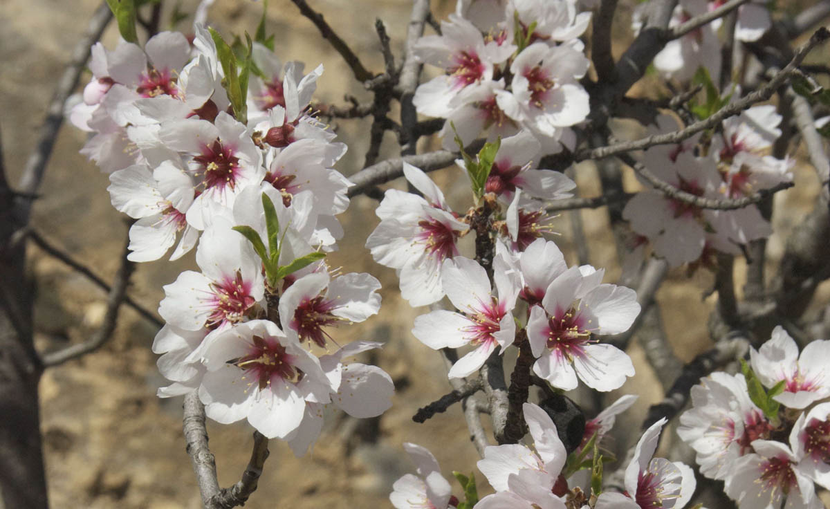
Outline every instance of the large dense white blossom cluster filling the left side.
<path fill-rule="evenodd" d="M 247 87 L 237 65 L 253 70 Z M 380 344 L 330 335 L 378 312 L 380 283 L 324 260 L 351 184 L 332 168 L 345 145 L 308 113 L 322 66 L 282 65 L 260 42 L 237 60 L 197 24 L 193 44 L 173 32 L 144 48 L 98 43 L 90 70 L 70 118 L 90 132 L 82 152 L 110 174 L 113 205 L 136 219 L 129 259 L 196 249 L 198 271 L 164 286 L 153 350 L 172 384 L 159 396 L 196 390 L 208 417 L 247 418 L 298 455 L 327 405 L 388 409 L 388 374 L 345 361 Z"/>

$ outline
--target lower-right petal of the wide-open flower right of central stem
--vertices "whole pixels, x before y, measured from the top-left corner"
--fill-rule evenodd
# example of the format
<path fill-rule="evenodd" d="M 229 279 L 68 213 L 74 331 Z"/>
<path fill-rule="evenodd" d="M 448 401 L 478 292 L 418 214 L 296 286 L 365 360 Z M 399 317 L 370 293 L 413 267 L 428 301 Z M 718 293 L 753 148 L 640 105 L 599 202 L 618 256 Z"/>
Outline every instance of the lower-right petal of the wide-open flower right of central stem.
<path fill-rule="evenodd" d="M 586 345 L 583 355 L 574 355 L 579 378 L 591 389 L 601 392 L 619 389 L 626 377 L 634 376 L 631 358 L 613 345 Z"/>

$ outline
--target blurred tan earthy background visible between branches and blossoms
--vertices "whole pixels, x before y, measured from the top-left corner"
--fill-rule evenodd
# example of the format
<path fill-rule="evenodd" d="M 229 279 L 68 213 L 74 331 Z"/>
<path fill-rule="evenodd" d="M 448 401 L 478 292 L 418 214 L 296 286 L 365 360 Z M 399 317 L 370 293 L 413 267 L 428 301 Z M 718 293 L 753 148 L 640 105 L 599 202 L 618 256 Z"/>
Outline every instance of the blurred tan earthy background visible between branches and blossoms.
<path fill-rule="evenodd" d="M 182 2 L 183 10 L 187 12 L 196 3 Z M 315 0 L 311 3 L 325 14 L 369 69 L 379 71 L 383 67 L 374 33 L 375 17 L 386 22 L 393 49 L 399 55 L 411 5 L 408 0 Z M 454 4 L 449 0 L 433 3 L 438 4 L 435 12 L 439 19 Z M 97 5 L 93 0 L 0 0 L 0 19 L 4 21 L 0 52 L 5 64 L 0 67 L 0 131 L 11 182 L 19 178 L 27 154 L 35 144 L 57 76 Z M 210 19 L 226 35 L 232 31 L 253 32 L 260 9 L 260 4 L 253 2 L 217 0 Z M 626 35 L 628 12 L 630 8 L 623 7 L 619 13 L 617 33 L 622 39 L 629 37 Z M 184 24 L 179 29 L 187 30 Z M 317 100 L 344 104 L 344 93 L 357 95 L 361 100 L 369 99 L 368 93 L 354 82 L 344 62 L 319 37 L 315 27 L 300 17 L 291 2 L 271 0 L 268 29 L 276 33 L 276 52 L 284 61 L 325 65 L 325 74 L 315 95 Z M 111 25 L 103 42 L 111 48 L 116 41 L 117 32 Z M 88 76 L 84 82 L 86 79 Z M 336 127 L 340 139 L 349 144 L 349 154 L 339 163 L 339 170 L 349 175 L 362 164 L 368 143 L 364 134 L 368 133 L 369 122 L 340 121 Z M 110 206 L 105 190 L 109 184 L 106 175 L 78 154 L 84 142 L 85 133 L 71 125 L 61 130 L 41 185 L 42 198 L 35 205 L 32 225 L 51 242 L 111 280 L 126 228 L 124 218 Z M 428 148 L 422 144 L 419 151 Z M 383 154 L 395 154 L 391 135 L 385 141 Z M 584 196 L 596 195 L 598 179 L 593 166 L 583 164 L 576 173 L 580 192 Z M 452 198 L 459 206 L 466 203 L 460 170 L 446 169 L 434 175 L 444 184 L 461 182 L 453 187 Z M 628 184 L 635 188 L 631 175 L 627 177 Z M 817 179 L 812 169 L 799 165 L 796 183 L 796 188 L 776 197 L 777 231 L 779 228 L 787 231 L 812 208 L 817 193 Z M 369 431 L 376 443 L 359 438 L 360 433 L 356 431 L 359 427 L 354 421 L 337 414 L 327 419 L 322 437 L 305 458 L 294 458 L 284 443 L 273 441 L 260 487 L 246 507 L 388 507 L 392 482 L 403 473 L 413 471 L 401 447 L 404 441 L 431 449 L 447 477 L 453 470 L 475 469 L 477 457 L 466 439 L 460 409 L 454 407 L 424 424 L 411 420 L 419 406 L 447 392 L 448 384 L 439 356 L 409 333 L 413 318 L 423 311 L 413 310 L 399 299 L 393 271 L 374 263 L 363 247 L 365 238 L 377 224 L 375 204 L 364 197 L 352 201 L 349 211 L 341 217 L 349 240 L 330 257 L 330 262 L 334 267 L 342 266 L 344 272 L 371 272 L 378 277 L 383 282 L 383 306 L 379 316 L 365 324 L 338 330 L 335 338 L 340 342 L 365 339 L 387 343 L 373 361 L 392 374 L 398 386 L 393 408 L 380 419 L 377 433 Z M 608 269 L 606 281 L 616 281 L 620 268 L 607 214 L 599 209 L 583 211 L 582 217 L 590 262 Z M 559 218 L 559 223 L 563 236 L 557 242 L 566 252 L 569 263 L 574 263 L 576 256 L 568 215 Z M 769 247 L 770 275 L 782 249 L 783 238 L 776 234 Z M 83 340 L 100 324 L 105 310 L 104 293 L 37 247 L 31 247 L 29 253 L 29 267 L 38 287 L 38 348 L 56 349 Z M 175 280 L 178 272 L 192 267 L 195 267 L 192 256 L 173 263 L 142 264 L 135 272 L 129 293 L 155 309 L 164 296 L 162 286 Z M 742 281 L 740 270 L 738 277 Z M 706 317 L 713 299 L 704 299 L 703 295 L 711 283 L 710 275 L 705 272 L 686 278 L 678 270 L 671 273 L 658 293 L 667 336 L 681 360 L 691 360 L 710 345 Z M 741 285 L 739 282 L 739 289 Z M 828 301 L 826 290 L 820 291 L 816 310 Z M 155 396 L 159 384 L 164 384 L 154 365 L 156 356 L 149 350 L 155 332 L 134 311 L 122 307 L 120 325 L 104 348 L 46 371 L 41 382 L 41 427 L 52 507 L 200 507 L 198 489 L 184 449 L 181 399 Z M 618 429 L 623 430 L 637 428 L 647 405 L 662 394 L 659 380 L 643 360 L 642 350 L 636 343 L 632 344 L 629 354 L 637 365 L 637 375 L 605 399 L 609 403 L 620 394 L 640 394 L 636 407 L 618 420 Z M 233 426 L 209 423 L 208 431 L 220 484 L 228 486 L 238 480 L 247 463 L 251 429 L 247 423 Z M 615 448 L 624 450 L 631 439 L 636 439 L 624 435 L 613 443 Z M 486 492 L 486 482 L 483 477 L 478 478 L 482 492 Z"/>

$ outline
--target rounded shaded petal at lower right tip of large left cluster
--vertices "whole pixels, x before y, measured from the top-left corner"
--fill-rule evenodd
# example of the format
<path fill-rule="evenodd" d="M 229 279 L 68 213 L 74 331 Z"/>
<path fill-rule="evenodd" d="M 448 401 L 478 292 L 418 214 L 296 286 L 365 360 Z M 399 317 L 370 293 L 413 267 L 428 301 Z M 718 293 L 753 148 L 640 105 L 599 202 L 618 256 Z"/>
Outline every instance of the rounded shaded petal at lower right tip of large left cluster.
<path fill-rule="evenodd" d="M 377 366 L 357 362 L 343 368 L 343 381 L 332 402 L 356 418 L 377 417 L 392 406 L 392 378 Z"/>

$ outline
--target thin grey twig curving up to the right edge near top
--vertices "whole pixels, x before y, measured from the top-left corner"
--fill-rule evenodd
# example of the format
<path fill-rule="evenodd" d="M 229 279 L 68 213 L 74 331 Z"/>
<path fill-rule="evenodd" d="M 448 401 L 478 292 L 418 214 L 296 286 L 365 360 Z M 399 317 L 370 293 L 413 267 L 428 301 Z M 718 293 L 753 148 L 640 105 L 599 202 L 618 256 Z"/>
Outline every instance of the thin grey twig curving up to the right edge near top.
<path fill-rule="evenodd" d="M 772 80 L 764 86 L 761 86 L 757 91 L 747 94 L 741 99 L 725 105 L 705 120 L 700 120 L 694 124 L 687 125 L 684 129 L 663 135 L 653 135 L 642 139 L 623 141 L 618 144 L 611 144 L 605 147 L 598 147 L 596 149 L 579 150 L 576 154 L 574 154 L 574 160 L 583 161 L 586 159 L 603 159 L 613 155 L 631 152 L 632 150 L 647 149 L 648 147 L 658 144 L 680 143 L 684 139 L 691 138 L 691 136 L 696 135 L 699 132 L 712 129 L 717 125 L 720 125 L 723 120 L 729 118 L 730 116 L 740 114 L 742 111 L 749 108 L 749 106 L 768 100 L 780 86 L 784 85 L 784 82 L 789 79 L 789 76 L 793 74 L 793 71 L 804 60 L 804 57 L 807 56 L 815 46 L 827 41 L 828 38 L 830 38 L 830 31 L 824 27 L 819 28 L 815 33 L 813 33 L 813 37 L 810 37 L 810 40 L 806 44 L 798 48 L 793 56 L 793 60 L 791 60 L 789 64 L 784 67 L 784 69 L 779 71 Z"/>

